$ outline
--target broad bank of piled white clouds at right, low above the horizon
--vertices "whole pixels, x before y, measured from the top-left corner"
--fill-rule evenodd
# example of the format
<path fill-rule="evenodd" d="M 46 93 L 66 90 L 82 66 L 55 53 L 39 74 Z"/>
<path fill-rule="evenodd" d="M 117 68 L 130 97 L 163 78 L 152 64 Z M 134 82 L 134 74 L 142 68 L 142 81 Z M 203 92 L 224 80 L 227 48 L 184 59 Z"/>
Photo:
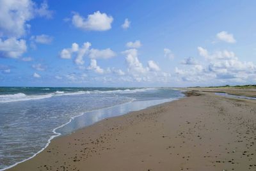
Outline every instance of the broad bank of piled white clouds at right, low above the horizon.
<path fill-rule="evenodd" d="M 208 52 L 198 47 L 200 56 L 207 59 L 207 63 L 193 64 L 186 69 L 175 68 L 176 75 L 184 81 L 190 82 L 246 82 L 255 79 L 256 66 L 252 62 L 239 61 L 234 52 L 228 50 Z"/>

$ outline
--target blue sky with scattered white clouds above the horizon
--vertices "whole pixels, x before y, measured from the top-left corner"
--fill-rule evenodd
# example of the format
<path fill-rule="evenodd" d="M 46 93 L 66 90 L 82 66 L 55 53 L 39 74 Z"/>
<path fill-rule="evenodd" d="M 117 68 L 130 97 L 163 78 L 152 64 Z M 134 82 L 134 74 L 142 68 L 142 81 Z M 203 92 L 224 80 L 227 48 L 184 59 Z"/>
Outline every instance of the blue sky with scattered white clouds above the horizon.
<path fill-rule="evenodd" d="M 0 86 L 255 84 L 255 6 L 0 0 Z"/>

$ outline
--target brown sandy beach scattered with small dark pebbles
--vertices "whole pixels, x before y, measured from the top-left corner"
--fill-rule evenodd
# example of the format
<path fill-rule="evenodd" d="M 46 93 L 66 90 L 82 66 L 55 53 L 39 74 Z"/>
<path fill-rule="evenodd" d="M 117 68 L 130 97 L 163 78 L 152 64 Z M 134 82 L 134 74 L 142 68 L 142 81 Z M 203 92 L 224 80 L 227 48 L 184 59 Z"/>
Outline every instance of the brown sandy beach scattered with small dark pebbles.
<path fill-rule="evenodd" d="M 256 101 L 191 95 L 55 138 L 10 170 L 256 170 Z"/>

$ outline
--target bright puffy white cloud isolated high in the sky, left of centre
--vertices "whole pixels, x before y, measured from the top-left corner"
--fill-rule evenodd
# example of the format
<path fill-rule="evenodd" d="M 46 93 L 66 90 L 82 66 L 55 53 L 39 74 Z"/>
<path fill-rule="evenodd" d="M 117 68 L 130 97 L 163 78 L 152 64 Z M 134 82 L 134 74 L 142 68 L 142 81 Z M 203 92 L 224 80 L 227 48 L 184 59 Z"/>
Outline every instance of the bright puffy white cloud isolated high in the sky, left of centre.
<path fill-rule="evenodd" d="M 72 17 L 72 24 L 83 30 L 107 31 L 111 29 L 112 22 L 113 17 L 108 16 L 106 13 L 100 13 L 100 11 L 88 15 L 87 19 L 84 19 L 78 13 L 75 13 Z"/>

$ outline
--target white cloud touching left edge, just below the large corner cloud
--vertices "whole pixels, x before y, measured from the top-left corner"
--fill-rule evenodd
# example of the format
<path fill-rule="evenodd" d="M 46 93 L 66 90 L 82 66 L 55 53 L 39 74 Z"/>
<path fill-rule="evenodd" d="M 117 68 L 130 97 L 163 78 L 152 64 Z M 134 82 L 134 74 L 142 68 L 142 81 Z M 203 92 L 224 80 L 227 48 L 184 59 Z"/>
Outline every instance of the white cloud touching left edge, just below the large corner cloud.
<path fill-rule="evenodd" d="M 18 58 L 26 50 L 26 40 L 17 40 L 16 38 L 1 40 L 0 38 L 0 57 Z"/>

